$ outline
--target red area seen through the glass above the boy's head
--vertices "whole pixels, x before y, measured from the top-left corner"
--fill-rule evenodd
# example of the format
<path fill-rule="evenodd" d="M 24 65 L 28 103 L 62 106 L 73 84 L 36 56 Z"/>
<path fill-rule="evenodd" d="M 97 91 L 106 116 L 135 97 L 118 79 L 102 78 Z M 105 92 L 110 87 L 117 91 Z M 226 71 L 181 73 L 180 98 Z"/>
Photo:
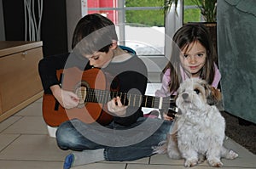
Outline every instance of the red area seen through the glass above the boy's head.
<path fill-rule="evenodd" d="M 88 8 L 116 8 L 117 0 L 87 0 Z M 108 17 L 114 24 L 117 23 L 118 12 L 116 10 L 88 10 L 88 14 L 99 13 Z"/>

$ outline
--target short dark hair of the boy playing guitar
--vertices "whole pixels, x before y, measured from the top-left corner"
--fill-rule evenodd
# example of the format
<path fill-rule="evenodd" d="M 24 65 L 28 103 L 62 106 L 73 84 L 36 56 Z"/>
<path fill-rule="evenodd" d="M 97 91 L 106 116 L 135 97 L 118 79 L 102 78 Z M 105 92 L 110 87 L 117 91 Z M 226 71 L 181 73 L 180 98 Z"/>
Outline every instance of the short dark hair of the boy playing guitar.
<path fill-rule="evenodd" d="M 72 48 L 79 48 L 83 54 L 108 53 L 113 40 L 118 41 L 113 22 L 101 14 L 87 14 L 76 25 Z"/>

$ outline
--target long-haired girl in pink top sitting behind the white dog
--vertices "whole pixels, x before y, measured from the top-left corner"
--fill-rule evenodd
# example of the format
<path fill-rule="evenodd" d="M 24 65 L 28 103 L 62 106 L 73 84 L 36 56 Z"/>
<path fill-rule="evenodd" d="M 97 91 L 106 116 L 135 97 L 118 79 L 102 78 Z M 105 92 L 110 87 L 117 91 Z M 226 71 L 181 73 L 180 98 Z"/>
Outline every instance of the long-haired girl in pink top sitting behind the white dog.
<path fill-rule="evenodd" d="M 174 34 L 172 56 L 163 70 L 162 86 L 155 92 L 158 97 L 176 95 L 179 84 L 189 77 L 206 80 L 218 87 L 220 72 L 215 64 L 216 53 L 209 39 L 207 29 L 201 24 L 183 25 Z M 172 117 L 163 114 L 165 120 Z"/>

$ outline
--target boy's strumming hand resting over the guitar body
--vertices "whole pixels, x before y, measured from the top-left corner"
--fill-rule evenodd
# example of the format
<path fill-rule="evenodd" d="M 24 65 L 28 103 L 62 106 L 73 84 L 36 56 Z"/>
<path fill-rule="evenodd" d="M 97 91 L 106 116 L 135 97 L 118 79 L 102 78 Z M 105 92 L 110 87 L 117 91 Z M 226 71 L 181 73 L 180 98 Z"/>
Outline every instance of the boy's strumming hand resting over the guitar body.
<path fill-rule="evenodd" d="M 55 99 L 61 104 L 65 109 L 72 109 L 77 107 L 79 104 L 79 97 L 70 91 L 62 90 L 59 85 L 54 85 L 50 87 Z"/>

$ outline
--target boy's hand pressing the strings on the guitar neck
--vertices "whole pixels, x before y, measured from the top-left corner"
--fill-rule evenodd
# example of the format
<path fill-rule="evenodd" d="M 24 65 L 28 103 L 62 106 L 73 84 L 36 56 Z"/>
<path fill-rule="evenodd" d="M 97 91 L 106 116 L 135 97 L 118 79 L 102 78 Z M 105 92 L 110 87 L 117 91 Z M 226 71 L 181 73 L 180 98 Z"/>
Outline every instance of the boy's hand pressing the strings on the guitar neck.
<path fill-rule="evenodd" d="M 118 116 L 125 116 L 127 106 L 123 105 L 121 99 L 118 97 L 108 102 L 108 111 Z"/>

